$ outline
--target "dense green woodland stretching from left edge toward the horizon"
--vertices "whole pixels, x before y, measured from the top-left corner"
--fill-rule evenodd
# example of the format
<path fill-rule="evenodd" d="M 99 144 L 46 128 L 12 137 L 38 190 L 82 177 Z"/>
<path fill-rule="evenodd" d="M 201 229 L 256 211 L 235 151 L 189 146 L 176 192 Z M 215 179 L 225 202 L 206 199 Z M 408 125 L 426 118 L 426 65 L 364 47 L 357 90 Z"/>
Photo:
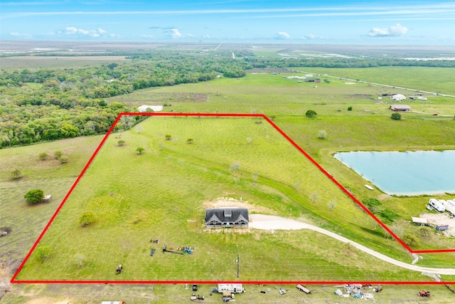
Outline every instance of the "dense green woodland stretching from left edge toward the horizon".
<path fill-rule="evenodd" d="M 132 109 L 107 105 L 103 98 L 219 75 L 238 78 L 251 68 L 455 66 L 454 61 L 397 58 L 265 58 L 250 51 L 137 51 L 127 58 L 131 61 L 81 68 L 0 70 L 0 148 L 105 134 L 119 112 Z M 125 119 L 117 128 L 137 122 Z"/>

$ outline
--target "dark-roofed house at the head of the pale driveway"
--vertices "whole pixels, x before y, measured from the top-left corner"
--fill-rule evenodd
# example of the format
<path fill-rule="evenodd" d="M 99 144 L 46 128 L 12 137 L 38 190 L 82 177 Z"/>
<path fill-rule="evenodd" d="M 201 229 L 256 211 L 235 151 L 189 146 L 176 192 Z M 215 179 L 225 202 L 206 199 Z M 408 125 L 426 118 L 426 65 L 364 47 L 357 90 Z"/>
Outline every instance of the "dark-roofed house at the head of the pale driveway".
<path fill-rule="evenodd" d="M 246 208 L 205 209 L 205 226 L 207 228 L 248 228 L 249 221 Z"/>

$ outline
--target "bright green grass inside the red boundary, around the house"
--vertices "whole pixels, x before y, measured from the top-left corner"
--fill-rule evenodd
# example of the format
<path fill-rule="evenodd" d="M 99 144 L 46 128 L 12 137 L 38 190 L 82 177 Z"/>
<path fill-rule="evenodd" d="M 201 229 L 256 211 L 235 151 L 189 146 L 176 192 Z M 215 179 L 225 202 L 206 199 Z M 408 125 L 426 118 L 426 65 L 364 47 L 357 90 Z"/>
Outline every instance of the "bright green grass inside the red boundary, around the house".
<path fill-rule="evenodd" d="M 425 280 L 311 231 L 205 229 L 207 201 L 241 196 L 253 211 L 336 227 L 338 234 L 407 261 L 397 242 L 370 229 L 368 216 L 263 120 L 151 117 L 122 133 L 124 146 L 117 137 L 109 136 L 41 239 L 38 248 L 50 247 L 50 256 L 40 261 L 34 251 L 18 280 L 236 280 L 237 254 L 241 281 Z M 232 174 L 235 162 L 240 170 Z M 314 192 L 316 204 L 309 200 Z M 336 203 L 333 211 L 329 201 Z M 85 211 L 97 222 L 82 228 L 78 219 Z M 196 250 L 164 253 L 165 244 Z M 115 275 L 118 264 L 124 271 Z"/>

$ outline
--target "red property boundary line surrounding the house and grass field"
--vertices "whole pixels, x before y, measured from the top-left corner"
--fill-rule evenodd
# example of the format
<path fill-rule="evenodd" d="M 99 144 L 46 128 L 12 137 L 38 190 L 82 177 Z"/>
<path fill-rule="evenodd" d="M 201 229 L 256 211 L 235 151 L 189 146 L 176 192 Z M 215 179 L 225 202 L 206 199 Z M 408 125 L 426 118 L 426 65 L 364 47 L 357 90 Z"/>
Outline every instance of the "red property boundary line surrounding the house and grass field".
<path fill-rule="evenodd" d="M 52 224 L 53 220 L 55 219 L 55 216 L 57 216 L 57 214 L 60 211 L 60 209 L 62 209 L 63 204 L 65 204 L 66 200 L 68 199 L 70 194 L 75 189 L 77 183 L 80 181 L 82 176 L 85 174 L 85 171 L 88 169 L 88 167 L 90 167 L 90 164 L 92 163 L 93 159 L 95 159 L 95 156 L 100 151 L 101 147 L 105 144 L 105 142 L 107 140 L 107 137 L 109 137 L 109 135 L 112 133 L 112 130 L 114 130 L 114 127 L 115 127 L 115 125 L 117 125 L 117 122 L 119 122 L 120 118 L 122 116 L 124 116 L 124 115 L 132 115 L 132 116 L 186 116 L 186 117 L 259 117 L 259 118 L 263 118 L 264 120 L 267 120 L 267 122 L 269 122 L 269 124 L 272 125 L 272 127 L 274 127 L 275 130 L 277 130 L 284 138 L 286 138 L 289 142 L 291 142 L 291 144 L 294 147 L 296 147 L 296 149 L 299 150 L 299 152 L 301 152 L 301 154 L 304 154 L 307 159 L 309 159 L 316 167 L 318 167 L 318 169 L 320 169 L 321 172 L 323 172 L 323 174 L 325 174 L 326 177 L 328 177 L 328 179 L 330 179 L 334 184 L 336 184 L 338 186 L 338 188 L 340 188 L 346 195 L 348 195 L 350 197 L 350 199 L 355 201 L 355 203 L 358 204 L 358 206 L 360 206 L 360 208 L 363 209 L 363 211 L 365 211 L 376 222 L 378 222 L 378 224 L 383 229 L 385 229 L 385 231 L 387 231 L 394 239 L 396 239 L 403 247 L 405 247 L 407 251 L 409 251 L 410 253 L 446 253 L 446 252 L 455 252 L 455 248 L 454 249 L 435 249 L 435 250 L 417 250 L 417 251 L 413 251 L 409 246 L 407 246 L 405 244 L 405 242 L 403 242 L 397 235 L 395 235 L 390 229 L 388 229 L 387 226 L 385 226 L 385 224 L 383 224 L 382 221 L 380 221 L 380 219 L 378 219 L 373 213 L 371 213 L 371 211 L 368 210 L 368 208 L 366 208 L 360 201 L 358 201 L 358 199 L 356 199 L 353 196 L 353 194 L 350 194 L 350 192 L 348 192 L 348 190 L 345 187 L 343 187 L 336 179 L 334 179 L 331 176 L 331 174 L 328 174 L 328 172 L 325 169 L 323 169 L 323 167 L 321 167 L 320 164 L 318 164 L 308 153 L 306 153 L 301 147 L 299 147 L 299 145 L 297 145 L 296 142 L 294 142 L 294 140 L 291 139 L 291 137 L 289 137 L 284 131 L 282 131 L 277 125 L 275 125 L 274 122 L 272 122 L 272 120 L 269 119 L 269 117 L 267 117 L 264 114 L 121 112 L 117 116 L 117 119 L 114 121 L 112 126 L 109 128 L 109 131 L 107 131 L 105 137 L 103 137 L 102 141 L 100 142 L 100 145 L 98 145 L 97 149 L 92 154 L 92 157 L 90 157 L 90 159 L 87 162 L 87 164 L 85 164 L 84 169 L 82 169 L 82 172 L 80 172 L 80 174 L 77 177 L 77 179 L 75 180 L 73 186 L 70 188 L 70 191 L 68 192 L 68 194 L 66 194 L 65 198 L 60 203 L 60 205 L 58 206 L 57 210 L 55 210 L 55 213 L 50 218 L 50 221 L 45 226 L 43 232 L 41 232 L 41 234 L 38 237 L 38 239 L 36 240 L 36 242 L 33 244 L 33 247 L 28 252 L 26 258 L 24 258 L 24 260 L 22 261 L 21 265 L 18 267 L 18 270 L 16 271 L 16 273 L 14 273 L 14 276 L 13 276 L 13 278 L 11 278 L 11 281 L 10 281 L 11 283 L 82 283 L 82 284 L 84 284 L 84 283 L 87 283 L 87 284 L 88 283 L 118 283 L 118 284 L 122 284 L 122 283 L 123 284 L 124 283 L 127 283 L 127 284 L 132 284 L 132 283 L 135 283 L 135 284 L 173 283 L 174 284 L 174 283 L 195 283 L 195 282 L 197 282 L 197 283 L 207 283 L 207 284 L 210 284 L 210 283 L 213 283 L 213 284 L 217 284 L 217 283 L 245 283 L 245 284 L 272 284 L 272 283 L 294 284 L 294 283 L 306 283 L 306 284 L 316 284 L 316 285 L 317 284 L 345 284 L 345 283 L 374 283 L 374 284 L 378 283 L 378 284 L 395 284 L 395 285 L 455 284 L 455 282 L 436 282 L 436 281 L 435 282 L 428 282 L 428 281 L 423 281 L 423 282 L 419 282 L 419 281 L 413 281 L 413 282 L 404 282 L 404 281 L 376 281 L 376 282 L 369 282 L 369 281 L 21 281 L 21 280 L 16 280 L 16 277 L 18 276 L 18 273 L 21 272 L 21 269 L 23 268 L 25 263 L 28 261 L 28 258 L 30 258 L 31 253 L 35 250 L 36 246 L 38 245 L 38 243 L 43 238 L 43 236 L 44 236 L 45 232 L 48 230 L 50 224 Z"/>

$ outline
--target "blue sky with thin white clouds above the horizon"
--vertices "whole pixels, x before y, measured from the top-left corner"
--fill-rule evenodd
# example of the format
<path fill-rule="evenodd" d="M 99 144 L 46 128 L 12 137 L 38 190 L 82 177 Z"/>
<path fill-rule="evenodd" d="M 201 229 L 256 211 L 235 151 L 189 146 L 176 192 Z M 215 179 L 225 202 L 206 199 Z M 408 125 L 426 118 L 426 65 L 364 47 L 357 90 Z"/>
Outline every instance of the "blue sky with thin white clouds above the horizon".
<path fill-rule="evenodd" d="M 455 44 L 455 1 L 0 0 L 0 39 Z"/>

